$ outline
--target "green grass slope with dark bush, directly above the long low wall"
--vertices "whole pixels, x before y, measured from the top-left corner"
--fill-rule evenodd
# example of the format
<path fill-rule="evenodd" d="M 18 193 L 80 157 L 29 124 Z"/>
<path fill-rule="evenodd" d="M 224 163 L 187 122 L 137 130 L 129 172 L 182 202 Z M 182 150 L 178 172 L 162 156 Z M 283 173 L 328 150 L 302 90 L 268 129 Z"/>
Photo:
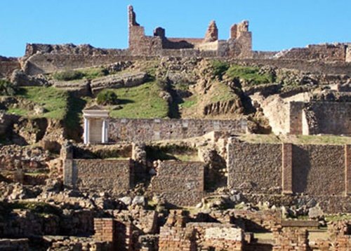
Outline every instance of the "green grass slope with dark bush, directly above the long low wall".
<path fill-rule="evenodd" d="M 155 81 L 132 88 L 113 90 L 121 109 L 112 110 L 112 118 L 166 118 L 168 104 L 159 97 L 161 88 Z"/>

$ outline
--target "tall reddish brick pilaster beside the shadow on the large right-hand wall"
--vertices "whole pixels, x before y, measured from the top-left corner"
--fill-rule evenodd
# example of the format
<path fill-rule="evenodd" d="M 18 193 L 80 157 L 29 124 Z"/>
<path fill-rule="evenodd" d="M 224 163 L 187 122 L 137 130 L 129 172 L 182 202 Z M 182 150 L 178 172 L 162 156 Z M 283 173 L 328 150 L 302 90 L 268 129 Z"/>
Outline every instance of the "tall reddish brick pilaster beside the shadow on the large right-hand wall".
<path fill-rule="evenodd" d="M 282 144 L 282 192 L 293 193 L 293 145 Z"/>

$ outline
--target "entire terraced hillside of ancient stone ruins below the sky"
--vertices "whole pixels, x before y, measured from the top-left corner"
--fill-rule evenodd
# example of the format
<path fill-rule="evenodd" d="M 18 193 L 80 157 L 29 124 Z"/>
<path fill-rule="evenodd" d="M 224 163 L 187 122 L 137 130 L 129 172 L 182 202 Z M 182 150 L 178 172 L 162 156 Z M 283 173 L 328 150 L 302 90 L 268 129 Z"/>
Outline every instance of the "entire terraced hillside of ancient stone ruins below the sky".
<path fill-rule="evenodd" d="M 0 250 L 351 250 L 351 43 L 153 34 L 0 56 Z"/>

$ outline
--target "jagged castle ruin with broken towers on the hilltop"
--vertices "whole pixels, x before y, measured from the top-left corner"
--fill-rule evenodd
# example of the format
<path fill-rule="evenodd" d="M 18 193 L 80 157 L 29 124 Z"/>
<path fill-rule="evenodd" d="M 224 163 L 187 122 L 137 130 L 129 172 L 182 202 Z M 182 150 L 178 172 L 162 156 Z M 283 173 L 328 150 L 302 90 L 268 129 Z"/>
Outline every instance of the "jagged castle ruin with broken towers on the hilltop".
<path fill-rule="evenodd" d="M 218 28 L 211 21 L 204 38 L 168 38 L 166 30 L 154 29 L 153 36 L 145 36 L 145 29 L 136 22 L 133 6 L 128 6 L 129 50 L 131 55 L 206 55 L 213 57 L 252 57 L 252 34 L 249 21 L 232 25 L 230 39 L 218 39 Z"/>

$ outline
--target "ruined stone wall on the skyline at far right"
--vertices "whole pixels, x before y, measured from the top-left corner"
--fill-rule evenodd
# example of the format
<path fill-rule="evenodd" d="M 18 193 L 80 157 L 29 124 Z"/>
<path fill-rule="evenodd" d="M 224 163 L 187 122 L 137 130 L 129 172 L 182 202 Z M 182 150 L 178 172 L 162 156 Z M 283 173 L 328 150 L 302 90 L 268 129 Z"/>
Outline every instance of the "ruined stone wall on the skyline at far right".
<path fill-rule="evenodd" d="M 277 57 L 283 59 L 340 61 L 346 60 L 346 48 L 343 43 L 310 45 L 306 48 L 292 48 L 279 53 Z"/>

